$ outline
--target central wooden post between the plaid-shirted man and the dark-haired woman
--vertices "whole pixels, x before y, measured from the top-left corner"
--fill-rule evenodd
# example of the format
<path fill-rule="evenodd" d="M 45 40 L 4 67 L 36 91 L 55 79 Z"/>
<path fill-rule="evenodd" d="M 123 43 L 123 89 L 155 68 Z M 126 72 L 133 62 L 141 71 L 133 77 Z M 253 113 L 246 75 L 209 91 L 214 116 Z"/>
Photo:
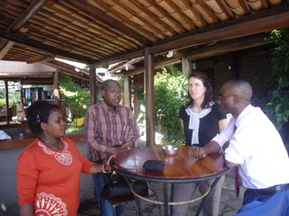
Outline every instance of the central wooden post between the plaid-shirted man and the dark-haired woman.
<path fill-rule="evenodd" d="M 154 114 L 154 56 L 144 49 L 145 125 L 146 146 L 155 145 Z"/>

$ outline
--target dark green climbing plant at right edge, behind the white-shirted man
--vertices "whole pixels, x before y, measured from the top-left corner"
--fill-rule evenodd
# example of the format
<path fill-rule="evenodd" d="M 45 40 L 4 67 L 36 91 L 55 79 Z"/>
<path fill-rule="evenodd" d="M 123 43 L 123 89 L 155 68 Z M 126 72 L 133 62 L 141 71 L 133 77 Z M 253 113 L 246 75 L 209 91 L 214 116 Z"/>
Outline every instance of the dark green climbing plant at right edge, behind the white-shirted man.
<path fill-rule="evenodd" d="M 272 95 L 270 103 L 266 104 L 267 116 L 275 123 L 283 139 L 288 139 L 289 95 L 284 94 L 284 89 L 289 87 L 289 28 L 270 31 L 277 49 L 272 53 L 273 75 L 277 76 L 278 85 Z M 289 140 L 284 140 L 288 142 Z"/>

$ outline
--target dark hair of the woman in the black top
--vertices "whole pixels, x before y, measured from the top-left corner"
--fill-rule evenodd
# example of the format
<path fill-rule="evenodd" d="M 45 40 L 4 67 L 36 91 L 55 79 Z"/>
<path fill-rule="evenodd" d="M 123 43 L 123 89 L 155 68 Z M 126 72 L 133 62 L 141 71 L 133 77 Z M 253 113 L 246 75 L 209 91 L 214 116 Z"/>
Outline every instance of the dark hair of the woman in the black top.
<path fill-rule="evenodd" d="M 203 72 L 200 72 L 200 71 L 196 71 L 196 72 L 191 73 L 188 76 L 188 80 L 191 77 L 195 77 L 197 79 L 200 79 L 202 84 L 207 88 L 204 101 L 203 101 L 203 103 L 200 104 L 200 107 L 201 107 L 201 109 L 209 108 L 210 102 L 213 98 L 213 87 L 212 87 L 212 82 L 211 82 L 210 78 L 208 76 L 206 76 Z M 189 90 L 188 90 L 188 97 L 189 97 L 189 102 L 184 105 L 185 108 L 190 107 L 193 103 L 193 99 L 191 98 Z"/>

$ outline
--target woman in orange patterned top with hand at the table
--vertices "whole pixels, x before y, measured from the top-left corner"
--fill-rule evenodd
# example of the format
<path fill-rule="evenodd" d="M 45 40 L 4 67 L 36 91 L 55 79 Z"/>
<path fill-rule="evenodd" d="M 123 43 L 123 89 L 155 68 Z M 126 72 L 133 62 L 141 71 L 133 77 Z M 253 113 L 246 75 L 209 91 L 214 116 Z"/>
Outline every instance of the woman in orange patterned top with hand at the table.
<path fill-rule="evenodd" d="M 39 134 L 18 158 L 17 193 L 21 216 L 77 215 L 80 173 L 109 170 L 83 157 L 65 136 L 61 108 L 46 101 L 27 110 L 30 130 Z"/>

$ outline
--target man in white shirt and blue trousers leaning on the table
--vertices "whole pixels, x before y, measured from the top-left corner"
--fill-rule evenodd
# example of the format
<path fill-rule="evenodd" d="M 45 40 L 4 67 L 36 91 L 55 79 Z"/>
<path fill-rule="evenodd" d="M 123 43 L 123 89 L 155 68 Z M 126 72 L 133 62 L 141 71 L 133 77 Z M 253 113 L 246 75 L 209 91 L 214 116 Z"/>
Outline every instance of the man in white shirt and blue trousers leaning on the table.
<path fill-rule="evenodd" d="M 219 109 L 231 113 L 233 118 L 206 146 L 193 148 L 191 155 L 203 158 L 223 151 L 226 166 L 238 166 L 247 188 L 243 207 L 238 211 L 243 214 L 238 215 L 248 215 L 249 209 L 254 215 L 265 215 L 263 211 L 287 215 L 288 203 L 278 209 L 276 205 L 284 200 L 281 197 L 289 197 L 289 172 L 284 169 L 289 166 L 288 154 L 274 124 L 260 108 L 251 105 L 252 94 L 251 85 L 244 80 L 230 80 L 222 85 Z M 273 196 L 280 199 L 271 199 Z"/>

